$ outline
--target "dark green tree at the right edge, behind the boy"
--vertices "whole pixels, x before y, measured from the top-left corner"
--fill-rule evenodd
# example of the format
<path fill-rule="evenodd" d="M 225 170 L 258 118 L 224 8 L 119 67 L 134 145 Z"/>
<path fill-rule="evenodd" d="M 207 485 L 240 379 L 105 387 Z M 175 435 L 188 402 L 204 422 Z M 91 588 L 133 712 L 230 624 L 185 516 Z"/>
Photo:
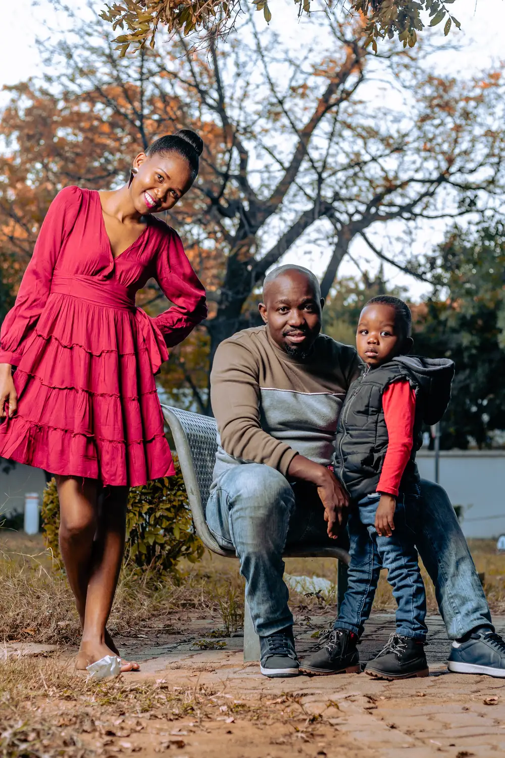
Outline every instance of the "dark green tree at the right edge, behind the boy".
<path fill-rule="evenodd" d="M 445 448 L 471 440 L 490 447 L 505 430 L 505 227 L 497 218 L 454 227 L 439 250 L 440 290 L 417 309 L 416 352 L 456 363 L 453 393 L 442 421 Z"/>

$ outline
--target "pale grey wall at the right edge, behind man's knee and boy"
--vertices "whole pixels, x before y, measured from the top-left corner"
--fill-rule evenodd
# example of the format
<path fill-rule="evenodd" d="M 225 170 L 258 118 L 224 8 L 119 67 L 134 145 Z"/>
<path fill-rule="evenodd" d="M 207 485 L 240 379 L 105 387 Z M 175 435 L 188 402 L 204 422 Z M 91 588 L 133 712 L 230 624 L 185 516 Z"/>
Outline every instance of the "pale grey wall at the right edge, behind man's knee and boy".
<path fill-rule="evenodd" d="M 435 481 L 435 456 L 419 450 L 423 478 Z M 454 506 L 463 506 L 465 537 L 505 534 L 505 450 L 447 450 L 440 454 L 440 484 Z"/>

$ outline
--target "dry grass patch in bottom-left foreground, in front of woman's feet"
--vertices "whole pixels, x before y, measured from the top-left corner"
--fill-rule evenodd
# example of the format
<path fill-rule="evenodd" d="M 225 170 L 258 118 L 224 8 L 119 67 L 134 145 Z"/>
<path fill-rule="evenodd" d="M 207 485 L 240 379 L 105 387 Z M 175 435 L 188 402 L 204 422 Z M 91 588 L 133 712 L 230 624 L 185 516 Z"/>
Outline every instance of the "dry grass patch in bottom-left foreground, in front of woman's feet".
<path fill-rule="evenodd" d="M 87 681 L 61 658 L 10 656 L 0 661 L 0 756 L 112 755 L 121 748 L 108 747 L 111 737 L 142 731 L 143 719 L 153 715 L 200 719 L 212 694 L 204 687 L 167 688 L 162 681 Z"/>

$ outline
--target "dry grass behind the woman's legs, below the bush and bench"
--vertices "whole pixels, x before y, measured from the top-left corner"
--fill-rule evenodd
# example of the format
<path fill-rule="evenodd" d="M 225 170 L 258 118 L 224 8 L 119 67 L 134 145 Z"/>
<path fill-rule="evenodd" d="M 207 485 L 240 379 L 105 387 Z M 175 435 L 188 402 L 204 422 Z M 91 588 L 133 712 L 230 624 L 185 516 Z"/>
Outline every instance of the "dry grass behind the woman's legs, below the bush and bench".
<path fill-rule="evenodd" d="M 184 568 L 178 583 L 170 576 L 139 576 L 126 564 L 108 624 L 111 634 L 136 631 L 143 622 L 186 609 L 215 614 L 229 632 L 236 631 L 243 618 L 238 563 L 232 562 L 232 571 L 223 576 L 189 562 Z M 0 530 L 0 641 L 68 645 L 79 637 L 73 595 L 42 538 Z"/>

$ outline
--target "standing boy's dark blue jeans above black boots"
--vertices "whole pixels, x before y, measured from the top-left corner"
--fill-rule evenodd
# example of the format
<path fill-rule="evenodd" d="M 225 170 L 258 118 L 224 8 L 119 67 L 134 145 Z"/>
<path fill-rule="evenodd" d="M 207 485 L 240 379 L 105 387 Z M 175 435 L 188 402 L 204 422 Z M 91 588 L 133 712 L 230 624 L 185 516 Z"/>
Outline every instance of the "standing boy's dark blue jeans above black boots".
<path fill-rule="evenodd" d="M 388 582 L 397 601 L 396 631 L 403 637 L 426 641 L 426 593 L 417 562 L 416 531 L 422 501 L 419 487 L 398 496 L 391 537 L 377 534 L 379 494 L 368 495 L 351 509 L 348 531 L 351 565 L 348 590 L 341 604 L 335 629 L 363 634 L 372 610 L 381 568 L 388 569 Z"/>

